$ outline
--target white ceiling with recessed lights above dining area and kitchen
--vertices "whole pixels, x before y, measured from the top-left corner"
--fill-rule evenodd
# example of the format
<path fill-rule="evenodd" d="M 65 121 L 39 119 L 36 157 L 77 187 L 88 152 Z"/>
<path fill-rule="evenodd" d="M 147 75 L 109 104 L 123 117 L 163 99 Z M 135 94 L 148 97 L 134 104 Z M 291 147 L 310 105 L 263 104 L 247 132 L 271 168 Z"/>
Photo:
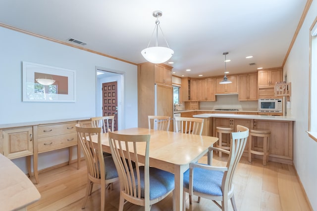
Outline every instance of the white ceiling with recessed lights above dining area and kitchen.
<path fill-rule="evenodd" d="M 0 23 L 82 46 L 133 63 L 146 60 L 160 27 L 174 55 L 174 75 L 222 75 L 281 67 L 305 0 L 0 0 Z M 164 44 L 159 34 L 159 45 Z M 2 41 L 3 42 L 3 41 Z M 155 43 L 151 42 L 151 46 Z M 253 55 L 251 59 L 246 56 Z M 250 66 L 249 63 L 256 63 Z M 186 69 L 191 69 L 186 72 Z M 229 75 L 230 75 L 229 74 Z"/>

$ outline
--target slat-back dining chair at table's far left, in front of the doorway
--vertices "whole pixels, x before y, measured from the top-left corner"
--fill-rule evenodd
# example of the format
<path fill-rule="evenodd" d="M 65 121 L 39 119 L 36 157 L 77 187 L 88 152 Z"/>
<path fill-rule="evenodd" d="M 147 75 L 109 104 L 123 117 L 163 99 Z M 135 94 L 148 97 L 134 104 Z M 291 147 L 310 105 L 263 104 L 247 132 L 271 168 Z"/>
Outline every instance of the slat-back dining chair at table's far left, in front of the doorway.
<path fill-rule="evenodd" d="M 102 133 L 114 131 L 114 116 L 92 117 L 90 118 L 92 127 L 102 127 Z M 110 153 L 103 152 L 104 157 L 111 156 Z"/>

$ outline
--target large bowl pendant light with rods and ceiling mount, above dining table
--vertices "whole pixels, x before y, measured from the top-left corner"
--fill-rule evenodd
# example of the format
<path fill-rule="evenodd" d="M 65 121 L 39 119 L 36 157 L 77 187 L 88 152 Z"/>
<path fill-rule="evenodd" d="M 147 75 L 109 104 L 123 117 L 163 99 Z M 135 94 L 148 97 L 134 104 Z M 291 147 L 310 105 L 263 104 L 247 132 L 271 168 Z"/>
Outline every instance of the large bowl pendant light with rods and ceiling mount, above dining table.
<path fill-rule="evenodd" d="M 143 49 L 141 51 L 141 54 L 143 55 L 143 57 L 148 60 L 151 63 L 155 63 L 155 64 L 159 64 L 159 63 L 163 63 L 166 62 L 168 59 L 170 59 L 170 57 L 172 57 L 174 51 L 172 49 L 169 48 L 168 43 L 164 37 L 163 31 L 159 26 L 159 17 L 162 16 L 162 12 L 159 10 L 156 10 L 153 12 L 153 16 L 157 18 L 157 20 L 155 21 L 155 28 L 154 31 L 152 33 L 151 39 L 153 37 L 154 32 L 156 31 L 156 44 L 154 47 L 149 47 L 150 42 L 148 44 L 148 47 Z M 161 47 L 158 46 L 158 39 L 159 39 L 159 29 L 163 35 L 163 38 L 167 44 L 167 47 Z"/>

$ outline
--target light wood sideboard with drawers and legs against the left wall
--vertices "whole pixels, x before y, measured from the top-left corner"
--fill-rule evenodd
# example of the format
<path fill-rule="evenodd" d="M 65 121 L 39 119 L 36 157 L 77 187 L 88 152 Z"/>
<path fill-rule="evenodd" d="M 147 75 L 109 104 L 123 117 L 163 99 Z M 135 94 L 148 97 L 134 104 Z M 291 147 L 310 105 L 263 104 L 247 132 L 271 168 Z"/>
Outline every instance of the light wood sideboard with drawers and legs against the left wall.
<path fill-rule="evenodd" d="M 77 168 L 79 169 L 81 153 L 75 127 L 77 123 L 90 125 L 90 118 L 0 125 L 0 153 L 9 159 L 26 157 L 30 176 L 33 155 L 34 177 L 39 183 L 38 154 L 68 147 L 68 163 L 70 164 L 72 147 L 77 146 Z"/>

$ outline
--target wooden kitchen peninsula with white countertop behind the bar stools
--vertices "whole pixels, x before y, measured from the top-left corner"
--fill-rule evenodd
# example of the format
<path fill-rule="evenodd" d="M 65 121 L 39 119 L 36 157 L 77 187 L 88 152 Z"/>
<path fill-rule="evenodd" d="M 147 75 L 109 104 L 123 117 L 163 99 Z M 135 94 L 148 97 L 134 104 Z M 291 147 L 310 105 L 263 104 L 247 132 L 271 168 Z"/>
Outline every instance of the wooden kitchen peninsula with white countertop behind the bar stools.
<path fill-rule="evenodd" d="M 227 126 L 235 129 L 237 125 L 242 125 L 254 129 L 268 129 L 271 131 L 269 161 L 293 163 L 293 122 L 295 119 L 292 117 L 242 114 L 198 114 L 193 115 L 193 117 L 204 119 L 203 135 L 215 136 L 217 126 Z M 254 142 L 256 147 L 262 146 L 261 138 Z M 245 155 L 247 155 L 247 152 L 248 144 Z M 259 155 L 255 155 L 255 157 L 262 158 Z"/>

